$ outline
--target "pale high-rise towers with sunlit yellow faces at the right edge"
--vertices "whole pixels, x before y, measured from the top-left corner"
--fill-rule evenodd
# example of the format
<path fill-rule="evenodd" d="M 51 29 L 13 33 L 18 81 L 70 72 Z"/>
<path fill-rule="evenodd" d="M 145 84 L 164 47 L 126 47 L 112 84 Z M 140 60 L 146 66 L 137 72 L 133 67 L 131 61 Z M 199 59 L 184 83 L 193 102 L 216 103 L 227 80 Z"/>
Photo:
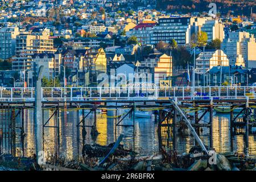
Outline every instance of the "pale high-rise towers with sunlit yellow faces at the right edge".
<path fill-rule="evenodd" d="M 256 42 L 249 32 L 230 32 L 221 49 L 226 53 L 230 65 L 245 63 L 246 68 L 256 68 Z"/>

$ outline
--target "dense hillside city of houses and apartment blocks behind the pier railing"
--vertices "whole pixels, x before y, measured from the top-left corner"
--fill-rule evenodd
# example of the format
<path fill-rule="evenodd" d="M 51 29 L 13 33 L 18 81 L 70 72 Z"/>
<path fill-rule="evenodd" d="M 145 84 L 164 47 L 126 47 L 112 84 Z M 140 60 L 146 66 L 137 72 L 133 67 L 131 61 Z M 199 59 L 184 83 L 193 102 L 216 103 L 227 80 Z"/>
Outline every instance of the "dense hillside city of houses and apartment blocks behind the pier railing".
<path fill-rule="evenodd" d="M 154 5 L 134 9 L 133 4 L 3 1 L 0 64 L 8 68 L 1 68 L 0 85 L 14 86 L 11 77 L 15 77 L 20 85 L 34 86 L 40 65 L 44 77 L 58 78 L 62 85 L 65 69 L 67 84 L 76 86 L 97 86 L 98 75 L 110 75 L 112 69 L 115 76 L 127 69 L 126 75 L 151 74 L 157 86 L 169 82 L 177 86 L 192 84 L 184 74 L 188 69 L 201 84 L 213 68 L 237 66 L 249 72 L 256 68 L 253 15 L 213 18 L 157 11 Z M 194 68 L 192 42 L 198 32 L 205 32 L 207 40 L 196 45 Z"/>

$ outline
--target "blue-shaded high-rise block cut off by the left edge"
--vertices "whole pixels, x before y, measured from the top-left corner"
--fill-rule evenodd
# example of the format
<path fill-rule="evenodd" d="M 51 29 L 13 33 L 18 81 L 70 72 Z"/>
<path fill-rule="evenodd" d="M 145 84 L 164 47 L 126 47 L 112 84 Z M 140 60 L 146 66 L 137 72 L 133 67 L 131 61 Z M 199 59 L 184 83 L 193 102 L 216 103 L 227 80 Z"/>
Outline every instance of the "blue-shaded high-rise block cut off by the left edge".
<path fill-rule="evenodd" d="M 15 55 L 18 27 L 3 27 L 0 29 L 0 59 L 5 60 Z"/>

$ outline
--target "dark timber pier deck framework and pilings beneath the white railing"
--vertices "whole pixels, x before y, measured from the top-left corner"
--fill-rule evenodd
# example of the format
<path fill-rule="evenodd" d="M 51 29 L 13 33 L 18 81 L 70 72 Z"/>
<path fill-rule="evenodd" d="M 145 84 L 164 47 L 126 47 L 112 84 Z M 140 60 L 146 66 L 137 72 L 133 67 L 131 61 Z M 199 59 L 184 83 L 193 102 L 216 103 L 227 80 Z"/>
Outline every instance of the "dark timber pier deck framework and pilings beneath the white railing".
<path fill-rule="evenodd" d="M 0 101 L 0 115 L 1 115 L 1 128 L 0 128 L 0 152 L 2 148 L 10 149 L 10 153 L 15 155 L 15 135 L 16 131 L 15 123 L 20 122 L 20 135 L 24 135 L 24 116 L 23 112 L 26 109 L 35 109 L 35 101 L 31 100 L 12 100 L 12 101 Z M 115 127 L 115 139 L 117 139 L 117 127 L 133 127 L 133 150 L 135 150 L 135 111 L 136 110 L 155 110 L 155 122 L 158 123 L 158 139 L 159 139 L 159 148 L 162 147 L 162 136 L 161 136 L 161 128 L 168 127 L 168 132 L 172 135 L 173 142 L 173 150 L 176 148 L 176 140 L 175 136 L 177 135 L 177 129 L 184 128 L 189 129 L 193 134 L 193 137 L 196 139 L 196 144 L 201 146 L 203 151 L 207 153 L 208 150 L 213 148 L 212 141 L 212 130 L 213 130 L 213 110 L 218 107 L 229 107 L 230 114 L 230 136 L 231 140 L 231 148 L 233 150 L 233 136 L 236 134 L 237 128 L 245 128 L 245 138 L 246 138 L 246 154 L 248 154 L 249 147 L 249 133 L 252 132 L 251 128 L 256 126 L 255 121 L 251 120 L 250 117 L 254 117 L 251 108 L 256 108 L 256 99 L 249 97 L 242 98 L 184 98 L 184 100 L 180 100 L 179 98 L 163 98 L 163 99 L 148 99 L 148 98 L 129 98 L 129 100 L 125 100 L 122 98 L 98 98 L 98 99 L 67 99 L 64 100 L 42 100 L 41 107 L 42 113 L 45 110 L 52 110 L 52 114 L 49 118 L 46 119 L 46 122 L 43 123 L 43 132 L 42 138 L 44 138 L 44 128 L 52 127 L 56 129 L 57 138 L 59 140 L 60 135 L 60 121 L 59 114 L 61 109 L 76 109 L 77 110 L 77 121 L 76 127 L 77 130 L 82 128 L 82 142 L 85 142 L 85 127 L 91 128 L 92 137 L 97 137 L 98 131 L 96 126 L 97 121 L 97 110 L 115 110 L 114 114 L 114 127 Z M 241 111 L 239 113 L 234 113 L 233 110 L 236 107 L 241 107 Z M 40 108 L 40 107 L 39 107 Z M 121 117 L 117 117 L 118 109 L 127 109 L 129 110 L 126 114 Z M 82 110 L 82 112 L 79 112 Z M 85 110 L 89 110 L 89 113 L 85 114 Z M 199 114 L 199 112 L 201 114 Z M 82 119 L 80 115 L 82 113 Z M 17 116 L 20 114 L 20 121 L 17 121 Z M 86 119 L 88 116 L 93 114 L 93 125 L 88 125 L 86 123 Z M 209 114 L 209 121 L 202 122 L 203 117 Z M 131 116 L 130 123 L 123 123 L 123 119 Z M 242 120 L 238 119 L 242 116 Z M 54 118 L 55 125 L 49 126 L 49 120 Z M 45 121 L 44 114 L 42 114 L 42 121 Z M 200 136 L 200 128 L 208 127 L 209 128 L 209 146 L 204 146 L 204 143 L 201 142 Z M 171 132 L 172 131 L 172 132 Z M 22 137 L 24 140 L 24 137 Z M 5 140 L 5 142 L 3 142 Z M 10 146 L 2 146 L 3 144 L 7 144 L 7 140 L 11 141 Z M 77 141 L 79 142 L 80 136 L 77 134 Z M 44 139 L 43 139 L 44 141 Z M 14 148 L 13 148 L 14 147 Z M 57 146 L 59 148 L 59 146 Z M 22 149 L 24 150 L 24 148 Z M 44 150 L 44 145 L 43 145 Z M 59 151 L 57 151 L 59 154 Z"/>

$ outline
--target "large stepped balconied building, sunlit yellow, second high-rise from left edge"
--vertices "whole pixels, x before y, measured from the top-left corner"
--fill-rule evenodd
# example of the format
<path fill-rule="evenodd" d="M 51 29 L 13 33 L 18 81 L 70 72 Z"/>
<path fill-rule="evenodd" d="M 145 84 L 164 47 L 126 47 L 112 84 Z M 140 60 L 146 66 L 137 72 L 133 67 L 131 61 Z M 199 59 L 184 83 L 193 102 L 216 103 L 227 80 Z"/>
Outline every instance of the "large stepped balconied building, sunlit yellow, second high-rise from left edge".
<path fill-rule="evenodd" d="M 49 39 L 49 29 L 34 28 L 31 32 L 20 32 L 16 37 L 16 56 L 13 69 L 23 71 L 31 69 L 31 58 L 35 53 L 56 52 L 53 39 Z"/>

